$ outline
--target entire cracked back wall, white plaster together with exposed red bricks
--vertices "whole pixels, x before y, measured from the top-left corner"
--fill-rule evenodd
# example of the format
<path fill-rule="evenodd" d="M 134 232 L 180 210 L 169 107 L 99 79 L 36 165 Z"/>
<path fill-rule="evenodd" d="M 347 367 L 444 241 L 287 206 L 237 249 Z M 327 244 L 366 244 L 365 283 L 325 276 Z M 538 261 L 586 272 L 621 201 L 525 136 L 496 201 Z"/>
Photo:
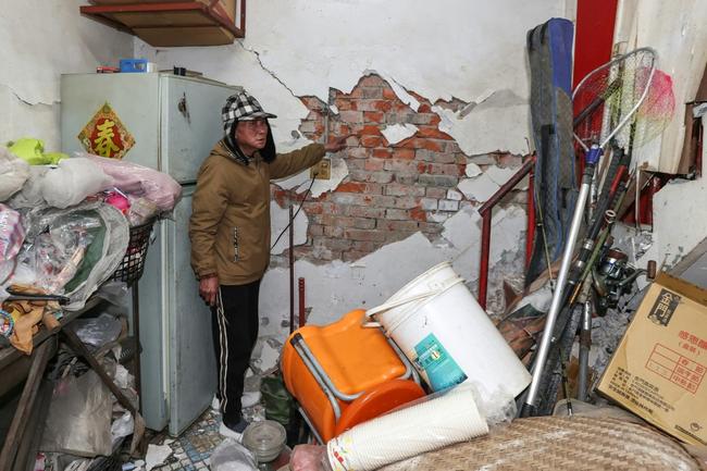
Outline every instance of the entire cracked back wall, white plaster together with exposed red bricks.
<path fill-rule="evenodd" d="M 385 301 L 443 260 L 476 289 L 476 208 L 529 151 L 525 33 L 571 17 L 571 3 L 273 0 L 249 5 L 247 38 L 232 46 L 154 49 L 136 40 L 135 55 L 244 86 L 278 115 L 281 151 L 321 139 L 324 108 L 331 135 L 357 135 L 332 156 L 334 178 L 314 182 L 302 209 L 307 241 L 295 249 L 310 320 L 322 323 Z M 351 97 L 367 88 L 385 97 Z M 392 108 L 346 109 L 347 100 Z M 277 182 L 274 218 L 308 186 L 307 172 Z M 519 191 L 494 214 L 496 311 L 500 281 L 522 271 L 524 201 Z M 275 255 L 263 280 L 263 335 L 282 336 L 286 326 L 285 264 L 286 252 Z"/>

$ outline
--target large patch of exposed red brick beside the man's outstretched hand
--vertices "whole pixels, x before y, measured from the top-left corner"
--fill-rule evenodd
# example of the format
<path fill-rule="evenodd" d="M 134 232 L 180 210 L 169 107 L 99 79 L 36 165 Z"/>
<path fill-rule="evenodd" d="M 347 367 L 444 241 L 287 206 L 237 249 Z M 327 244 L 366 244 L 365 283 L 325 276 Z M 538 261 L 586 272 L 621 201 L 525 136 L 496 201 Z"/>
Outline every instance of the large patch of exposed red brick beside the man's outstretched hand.
<path fill-rule="evenodd" d="M 338 114 L 328 117 L 330 138 L 352 136 L 340 153 L 349 175 L 334 191 L 302 203 L 310 224 L 308 243 L 295 248 L 298 257 L 320 263 L 357 260 L 417 231 L 430 237 L 442 233 L 443 224 L 427 221 L 427 211 L 446 200 L 447 190 L 463 174 L 467 156 L 438 129 L 441 119 L 432 112 L 430 101 L 410 92 L 420 102 L 417 111 L 375 74 L 361 77 L 350 92 L 330 89 L 330 102 L 338 109 Z M 321 140 L 326 103 L 311 96 L 300 100 L 310 113 L 299 132 Z M 452 100 L 436 104 L 455 110 L 461 103 Z M 384 123 L 413 124 L 418 132 L 390 146 L 381 133 Z M 518 159 L 503 152 L 494 157 L 494 162 L 508 165 Z M 295 194 L 274 185 L 271 195 L 286 207 L 301 200 L 303 191 Z M 273 256 L 272 265 L 285 267 L 284 257 Z"/>

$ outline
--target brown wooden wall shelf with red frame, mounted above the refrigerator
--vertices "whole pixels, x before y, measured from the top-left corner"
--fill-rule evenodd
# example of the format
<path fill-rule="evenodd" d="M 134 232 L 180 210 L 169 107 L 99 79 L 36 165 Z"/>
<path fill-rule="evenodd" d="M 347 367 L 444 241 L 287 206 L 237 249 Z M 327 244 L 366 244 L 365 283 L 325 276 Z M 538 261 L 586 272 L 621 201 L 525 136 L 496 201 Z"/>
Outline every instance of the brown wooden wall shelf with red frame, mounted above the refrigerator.
<path fill-rule="evenodd" d="M 213 0 L 196 0 L 211 5 Z M 184 0 L 91 0 L 98 7 L 125 5 L 120 12 L 102 13 L 106 18 L 124 25 L 133 34 L 153 47 L 220 46 L 230 45 L 236 38 L 233 30 L 224 27 L 215 17 L 195 10 L 164 10 L 147 12 L 131 10 L 132 4 L 141 3 L 189 3 Z M 230 25 L 236 26 L 236 0 L 219 0 L 213 11 Z M 240 18 L 239 18 L 240 20 Z M 244 25 L 238 28 L 243 35 Z"/>

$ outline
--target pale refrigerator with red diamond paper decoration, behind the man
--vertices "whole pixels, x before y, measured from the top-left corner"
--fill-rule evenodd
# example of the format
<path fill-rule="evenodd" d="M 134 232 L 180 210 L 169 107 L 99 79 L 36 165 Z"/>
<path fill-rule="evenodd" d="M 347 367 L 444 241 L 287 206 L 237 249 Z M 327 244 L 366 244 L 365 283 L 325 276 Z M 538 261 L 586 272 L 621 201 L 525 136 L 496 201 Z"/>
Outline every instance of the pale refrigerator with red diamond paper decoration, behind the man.
<path fill-rule="evenodd" d="M 119 122 L 124 133 L 116 138 L 117 128 L 112 128 L 110 136 L 122 139 L 123 147 L 132 146 L 122 158 L 169 173 L 183 186 L 174 219 L 156 224 L 138 285 L 142 416 L 149 429 L 168 426 L 174 436 L 209 407 L 216 385 L 211 315 L 189 265 L 187 227 L 197 172 L 223 135 L 221 108 L 238 90 L 163 73 L 61 79 L 64 152 L 84 150 L 82 139 L 87 137 L 98 142 L 94 117 L 99 110 L 110 110 L 111 125 Z M 91 122 L 94 134 L 82 133 Z M 100 129 L 104 136 L 106 127 Z"/>

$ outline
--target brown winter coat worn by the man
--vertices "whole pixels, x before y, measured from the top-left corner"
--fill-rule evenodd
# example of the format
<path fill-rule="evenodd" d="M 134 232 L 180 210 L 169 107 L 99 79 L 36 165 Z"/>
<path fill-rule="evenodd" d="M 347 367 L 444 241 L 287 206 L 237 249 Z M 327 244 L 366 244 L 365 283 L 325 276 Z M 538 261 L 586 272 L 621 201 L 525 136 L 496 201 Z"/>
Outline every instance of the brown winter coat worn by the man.
<path fill-rule="evenodd" d="M 189 238 L 197 277 L 218 274 L 222 285 L 262 277 L 270 262 L 270 181 L 294 175 L 324 157 L 311 144 L 265 163 L 256 152 L 245 165 L 220 141 L 201 165 L 194 193 Z"/>

